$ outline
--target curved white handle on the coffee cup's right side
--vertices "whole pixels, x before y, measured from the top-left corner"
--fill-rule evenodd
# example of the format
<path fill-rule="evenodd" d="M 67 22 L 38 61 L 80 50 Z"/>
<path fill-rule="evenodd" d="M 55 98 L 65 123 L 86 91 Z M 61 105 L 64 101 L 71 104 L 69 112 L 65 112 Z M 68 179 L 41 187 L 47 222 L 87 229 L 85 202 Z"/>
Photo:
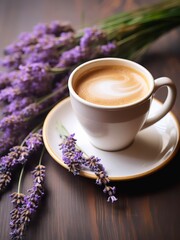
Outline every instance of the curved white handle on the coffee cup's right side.
<path fill-rule="evenodd" d="M 168 90 L 167 97 L 162 107 L 156 112 L 156 115 L 147 118 L 142 129 L 151 126 L 152 124 L 156 123 L 161 118 L 163 118 L 172 109 L 176 100 L 176 94 L 177 94 L 176 87 L 170 78 L 161 77 L 161 78 L 155 79 L 154 81 L 155 81 L 155 86 L 154 86 L 153 93 L 155 93 L 159 88 L 165 86 L 167 87 L 167 90 Z"/>

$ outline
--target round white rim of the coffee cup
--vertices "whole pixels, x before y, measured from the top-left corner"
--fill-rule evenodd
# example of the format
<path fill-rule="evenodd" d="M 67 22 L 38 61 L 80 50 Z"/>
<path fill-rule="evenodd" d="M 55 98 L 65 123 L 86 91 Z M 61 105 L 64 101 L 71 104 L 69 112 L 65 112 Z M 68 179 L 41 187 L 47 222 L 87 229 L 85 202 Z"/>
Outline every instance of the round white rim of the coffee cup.
<path fill-rule="evenodd" d="M 145 75 L 145 77 L 148 79 L 148 83 L 149 83 L 149 86 L 150 86 L 150 90 L 148 92 L 148 94 L 146 94 L 143 98 L 141 98 L 140 100 L 136 101 L 136 102 L 133 102 L 133 103 L 129 103 L 129 104 L 125 104 L 125 105 L 113 105 L 113 106 L 110 106 L 110 105 L 101 105 L 101 104 L 96 104 L 96 103 L 92 103 L 92 102 L 89 102 L 83 98 L 81 98 L 77 93 L 76 91 L 74 90 L 73 86 L 72 86 L 72 83 L 73 83 L 73 78 L 75 76 L 75 74 L 81 70 L 82 68 L 88 66 L 88 65 L 92 65 L 92 64 L 95 64 L 97 62 L 121 62 L 121 65 L 125 65 L 125 66 L 129 66 L 133 69 L 135 69 L 137 71 L 137 69 L 143 73 L 143 75 Z M 131 65 L 131 66 L 130 66 Z M 132 67 L 132 65 L 134 67 Z M 135 68 L 136 67 L 136 68 Z M 135 106 L 138 106 L 140 104 L 142 104 L 144 101 L 148 100 L 151 95 L 152 95 L 152 92 L 154 90 L 154 78 L 152 76 L 152 74 L 145 68 L 143 67 L 142 65 L 140 65 L 139 63 L 137 62 L 134 62 L 134 61 L 131 61 L 131 60 L 128 60 L 128 59 L 123 59 L 123 58 L 113 58 L 113 57 L 108 57 L 108 58 L 98 58 L 98 59 L 93 59 L 93 60 L 90 60 L 90 61 L 87 61 L 85 63 L 82 63 L 80 64 L 78 67 L 76 67 L 72 73 L 70 74 L 69 76 L 69 79 L 68 79 L 68 88 L 69 88 L 69 92 L 70 94 L 75 98 L 77 99 L 79 102 L 85 104 L 85 105 L 88 105 L 90 107 L 93 107 L 93 108 L 99 108 L 99 109 L 125 109 L 125 108 L 130 108 L 130 107 L 135 107 Z"/>

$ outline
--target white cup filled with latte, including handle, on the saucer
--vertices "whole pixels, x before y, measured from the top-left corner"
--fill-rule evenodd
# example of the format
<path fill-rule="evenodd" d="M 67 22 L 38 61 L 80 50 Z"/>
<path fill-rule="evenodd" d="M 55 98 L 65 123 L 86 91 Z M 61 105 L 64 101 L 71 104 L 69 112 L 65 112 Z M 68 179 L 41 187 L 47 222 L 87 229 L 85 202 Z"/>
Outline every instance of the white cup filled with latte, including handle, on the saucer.
<path fill-rule="evenodd" d="M 167 88 L 167 97 L 148 116 L 154 93 Z M 173 107 L 172 80 L 154 80 L 140 64 L 121 58 L 101 58 L 78 66 L 68 81 L 73 111 L 90 142 L 105 151 L 128 147 L 137 133 L 163 118 Z"/>

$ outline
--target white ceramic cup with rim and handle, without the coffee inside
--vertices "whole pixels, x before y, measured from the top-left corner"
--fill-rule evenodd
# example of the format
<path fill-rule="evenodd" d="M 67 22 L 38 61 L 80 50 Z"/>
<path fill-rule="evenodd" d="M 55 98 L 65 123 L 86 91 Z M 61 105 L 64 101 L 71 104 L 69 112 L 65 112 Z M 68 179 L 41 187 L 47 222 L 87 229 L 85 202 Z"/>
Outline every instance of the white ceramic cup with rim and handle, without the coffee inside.
<path fill-rule="evenodd" d="M 88 102 L 77 95 L 73 86 L 80 75 L 94 67 L 118 65 L 133 68 L 145 76 L 150 87 L 141 100 L 125 106 L 104 106 Z M 155 116 L 149 118 L 153 95 L 164 86 L 167 88 L 166 100 Z M 140 130 L 163 118 L 176 99 L 176 87 L 171 79 L 161 77 L 154 80 L 143 66 L 120 58 L 95 59 L 78 66 L 69 77 L 68 87 L 73 111 L 90 142 L 106 151 L 121 150 L 129 146 Z"/>

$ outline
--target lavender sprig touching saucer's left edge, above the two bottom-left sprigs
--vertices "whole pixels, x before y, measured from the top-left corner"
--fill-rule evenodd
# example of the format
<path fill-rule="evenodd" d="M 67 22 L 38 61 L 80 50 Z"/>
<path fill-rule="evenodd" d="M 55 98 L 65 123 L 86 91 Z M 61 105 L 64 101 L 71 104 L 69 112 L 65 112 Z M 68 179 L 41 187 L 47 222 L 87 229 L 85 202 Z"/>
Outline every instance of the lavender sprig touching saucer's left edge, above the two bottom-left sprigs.
<path fill-rule="evenodd" d="M 20 146 L 14 146 L 0 159 L 0 192 L 11 182 L 12 172 L 18 165 L 24 165 L 43 146 L 42 130 L 30 133 Z"/>

